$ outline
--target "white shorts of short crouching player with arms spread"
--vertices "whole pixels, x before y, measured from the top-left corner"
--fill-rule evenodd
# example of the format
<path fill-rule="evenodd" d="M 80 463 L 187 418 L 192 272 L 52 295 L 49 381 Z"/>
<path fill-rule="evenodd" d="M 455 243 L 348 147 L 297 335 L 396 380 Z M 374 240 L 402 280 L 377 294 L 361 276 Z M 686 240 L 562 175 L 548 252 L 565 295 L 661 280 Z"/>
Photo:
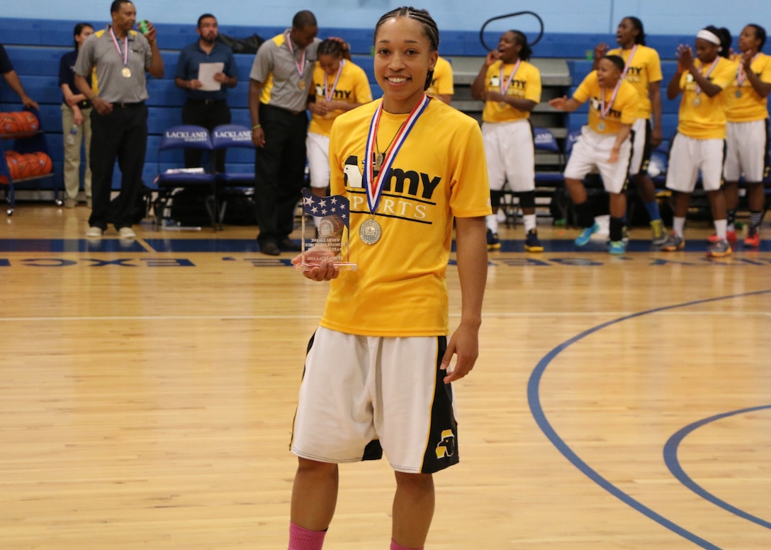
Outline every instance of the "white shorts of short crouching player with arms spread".
<path fill-rule="evenodd" d="M 621 193 L 626 185 L 629 169 L 631 139 L 627 138 L 624 143 L 621 143 L 618 162 L 608 163 L 614 143 L 616 143 L 615 134 L 600 134 L 594 132 L 589 126 L 584 126 L 581 128 L 581 136 L 578 136 L 573 145 L 564 176 L 581 180 L 596 168 L 602 177 L 605 190 L 608 193 Z"/>

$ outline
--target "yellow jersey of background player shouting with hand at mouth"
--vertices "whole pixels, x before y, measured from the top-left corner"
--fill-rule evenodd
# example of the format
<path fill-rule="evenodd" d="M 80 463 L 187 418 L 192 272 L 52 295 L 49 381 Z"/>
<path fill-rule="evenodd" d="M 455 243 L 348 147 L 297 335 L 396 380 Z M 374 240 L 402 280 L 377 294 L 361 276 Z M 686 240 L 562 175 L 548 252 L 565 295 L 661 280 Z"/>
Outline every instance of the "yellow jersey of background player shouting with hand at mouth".
<path fill-rule="evenodd" d="M 516 63 L 504 64 L 498 60 L 492 65 L 487 67 L 487 75 L 485 76 L 485 91 L 486 92 L 499 92 L 500 86 L 500 67 L 503 65 L 503 86 L 506 86 L 506 82 L 509 80 L 511 72 Z M 514 96 L 519 99 L 530 99 L 536 103 L 540 102 L 540 71 L 535 65 L 531 65 L 527 61 L 520 63 L 516 74 L 511 79 L 509 89 L 506 91 L 507 96 Z M 486 101 L 484 103 L 484 110 L 482 112 L 483 122 L 507 122 L 510 120 L 529 119 L 530 111 L 520 111 L 514 109 L 507 103 L 501 103 L 497 101 Z"/>

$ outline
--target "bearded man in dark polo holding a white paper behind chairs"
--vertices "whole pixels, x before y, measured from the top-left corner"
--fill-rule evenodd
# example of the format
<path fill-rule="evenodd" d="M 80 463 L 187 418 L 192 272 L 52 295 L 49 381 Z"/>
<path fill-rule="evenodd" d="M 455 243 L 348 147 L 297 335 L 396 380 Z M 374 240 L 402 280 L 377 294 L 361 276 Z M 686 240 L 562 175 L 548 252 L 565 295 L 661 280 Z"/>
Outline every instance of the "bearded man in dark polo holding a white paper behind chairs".
<path fill-rule="evenodd" d="M 187 94 L 187 101 L 182 106 L 182 122 L 204 126 L 211 132 L 215 127 L 231 122 L 231 109 L 227 106 L 226 98 L 227 89 L 234 88 L 238 82 L 236 63 L 233 50 L 217 42 L 217 18 L 214 15 L 201 15 L 196 30 L 200 38 L 180 52 L 174 84 Z M 207 63 L 222 64 L 222 68 L 214 73 L 214 82 L 219 83 L 217 89 L 211 89 L 198 78 L 200 65 Z M 185 149 L 185 166 L 201 166 L 202 156 L 201 149 Z M 224 150 L 217 151 L 216 168 L 217 172 L 225 171 Z"/>

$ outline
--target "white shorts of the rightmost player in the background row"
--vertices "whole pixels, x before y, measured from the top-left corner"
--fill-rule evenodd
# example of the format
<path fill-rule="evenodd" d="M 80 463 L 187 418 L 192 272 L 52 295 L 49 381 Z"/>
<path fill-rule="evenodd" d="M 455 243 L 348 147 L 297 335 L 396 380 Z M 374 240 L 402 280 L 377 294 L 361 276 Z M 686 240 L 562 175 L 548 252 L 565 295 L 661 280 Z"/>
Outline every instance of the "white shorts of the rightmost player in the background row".
<path fill-rule="evenodd" d="M 726 124 L 726 164 L 723 176 L 727 182 L 763 181 L 768 169 L 768 119 Z"/>

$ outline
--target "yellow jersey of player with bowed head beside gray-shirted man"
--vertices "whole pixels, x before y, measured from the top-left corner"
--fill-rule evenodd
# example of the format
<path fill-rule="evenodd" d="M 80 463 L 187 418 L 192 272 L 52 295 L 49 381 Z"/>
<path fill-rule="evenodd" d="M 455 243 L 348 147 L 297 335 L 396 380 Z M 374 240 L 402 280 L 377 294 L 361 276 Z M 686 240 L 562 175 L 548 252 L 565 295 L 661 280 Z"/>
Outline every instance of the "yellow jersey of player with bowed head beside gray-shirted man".
<path fill-rule="evenodd" d="M 344 101 L 346 103 L 369 103 L 372 101 L 372 90 L 369 89 L 369 80 L 364 69 L 354 63 L 343 59 L 341 61 L 342 72 L 340 79 L 335 86 L 335 92 L 332 94 L 332 101 Z M 325 92 L 332 92 L 332 86 L 335 84 L 335 75 L 327 75 L 327 89 L 324 89 L 324 69 L 316 62 L 316 68 L 313 72 L 313 89 L 315 90 L 316 101 L 326 100 Z M 311 116 L 311 124 L 308 126 L 308 132 L 328 136 L 332 131 L 332 122 L 335 118 L 345 112 L 337 109 L 328 113 L 326 116 Z"/>

